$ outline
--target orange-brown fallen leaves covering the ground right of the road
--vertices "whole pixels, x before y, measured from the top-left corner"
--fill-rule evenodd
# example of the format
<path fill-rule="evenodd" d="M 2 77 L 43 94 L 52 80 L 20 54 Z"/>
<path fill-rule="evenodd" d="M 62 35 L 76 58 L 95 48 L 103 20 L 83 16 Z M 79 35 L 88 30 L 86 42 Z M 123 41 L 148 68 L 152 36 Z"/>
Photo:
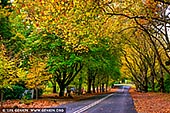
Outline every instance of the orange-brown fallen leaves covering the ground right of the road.
<path fill-rule="evenodd" d="M 170 94 L 130 90 L 138 113 L 170 113 Z"/>

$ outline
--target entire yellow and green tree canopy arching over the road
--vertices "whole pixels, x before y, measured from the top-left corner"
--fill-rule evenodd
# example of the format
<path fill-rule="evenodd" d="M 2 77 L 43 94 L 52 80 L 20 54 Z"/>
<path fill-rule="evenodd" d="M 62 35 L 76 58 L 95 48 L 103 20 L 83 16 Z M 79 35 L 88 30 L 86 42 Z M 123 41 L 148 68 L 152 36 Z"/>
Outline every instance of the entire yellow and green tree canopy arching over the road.
<path fill-rule="evenodd" d="M 3 57 L 16 62 L 10 69 L 25 71 L 25 84 L 40 79 L 29 88 L 51 81 L 60 96 L 81 73 L 89 92 L 121 74 L 141 89 L 159 84 L 163 91 L 170 74 L 168 8 L 166 0 L 1 0 Z"/>

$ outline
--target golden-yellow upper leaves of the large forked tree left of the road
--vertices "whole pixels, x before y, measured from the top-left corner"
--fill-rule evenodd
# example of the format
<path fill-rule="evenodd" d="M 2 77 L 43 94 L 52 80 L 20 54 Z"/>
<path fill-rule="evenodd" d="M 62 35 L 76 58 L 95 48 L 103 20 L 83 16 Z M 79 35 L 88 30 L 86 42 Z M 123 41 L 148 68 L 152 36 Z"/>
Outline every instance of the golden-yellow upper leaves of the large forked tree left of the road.
<path fill-rule="evenodd" d="M 26 21 L 31 21 L 35 27 L 34 33 L 37 33 L 37 30 L 46 30 L 49 33 L 55 33 L 65 40 L 69 46 L 68 48 L 74 48 L 78 44 L 81 45 L 80 38 L 84 38 L 84 40 L 81 39 L 81 42 L 86 43 L 86 45 L 93 44 L 93 42 L 96 42 L 93 40 L 96 40 L 97 37 L 102 35 L 99 26 L 103 25 L 104 18 L 97 16 L 104 13 L 99 11 L 94 1 L 19 1 L 15 4 L 16 10 L 22 10 L 20 15 L 22 15 L 21 17 L 23 19 L 26 16 L 25 14 L 27 14 L 27 18 L 29 19 Z M 27 22 L 25 23 L 27 24 Z M 84 37 L 84 35 L 89 37 Z M 46 34 L 43 34 L 43 36 L 46 36 Z"/>

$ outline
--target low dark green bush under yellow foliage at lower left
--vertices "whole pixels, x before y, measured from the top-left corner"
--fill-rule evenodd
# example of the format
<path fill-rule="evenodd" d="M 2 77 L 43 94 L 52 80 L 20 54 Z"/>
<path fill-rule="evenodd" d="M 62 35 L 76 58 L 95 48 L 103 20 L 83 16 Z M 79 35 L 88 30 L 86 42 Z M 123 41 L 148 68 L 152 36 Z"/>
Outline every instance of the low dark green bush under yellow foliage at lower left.
<path fill-rule="evenodd" d="M 4 89 L 4 99 L 20 99 L 25 88 L 18 85 L 12 85 L 11 88 Z"/>

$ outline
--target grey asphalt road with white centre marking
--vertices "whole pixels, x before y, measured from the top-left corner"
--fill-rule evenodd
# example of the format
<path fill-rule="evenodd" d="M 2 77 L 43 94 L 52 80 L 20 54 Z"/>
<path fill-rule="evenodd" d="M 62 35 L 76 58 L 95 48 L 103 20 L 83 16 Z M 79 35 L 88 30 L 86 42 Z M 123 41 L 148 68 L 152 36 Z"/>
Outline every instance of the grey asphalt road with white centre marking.
<path fill-rule="evenodd" d="M 115 93 L 94 96 L 57 108 L 66 108 L 66 113 L 137 113 L 128 92 L 129 88 L 120 86 Z"/>

